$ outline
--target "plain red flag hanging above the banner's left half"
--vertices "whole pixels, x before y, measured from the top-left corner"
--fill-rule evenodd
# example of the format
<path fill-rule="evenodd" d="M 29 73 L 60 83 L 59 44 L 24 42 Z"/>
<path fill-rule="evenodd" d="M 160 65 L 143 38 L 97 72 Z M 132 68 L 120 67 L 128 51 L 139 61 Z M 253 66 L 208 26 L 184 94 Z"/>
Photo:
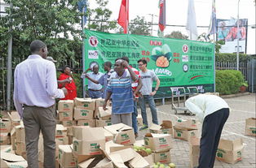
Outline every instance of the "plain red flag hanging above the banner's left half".
<path fill-rule="evenodd" d="M 129 0 L 121 0 L 121 6 L 117 23 L 124 28 L 124 33 L 127 33 L 129 23 Z"/>

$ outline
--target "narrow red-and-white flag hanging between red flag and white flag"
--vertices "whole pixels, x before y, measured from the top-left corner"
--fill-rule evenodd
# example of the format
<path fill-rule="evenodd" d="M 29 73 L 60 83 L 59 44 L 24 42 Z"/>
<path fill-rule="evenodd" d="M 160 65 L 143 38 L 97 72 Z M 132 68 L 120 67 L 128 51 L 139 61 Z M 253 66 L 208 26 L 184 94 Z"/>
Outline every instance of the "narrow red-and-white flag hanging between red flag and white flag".
<path fill-rule="evenodd" d="M 164 37 L 166 28 L 166 0 L 159 0 L 159 22 L 158 22 L 158 37 Z"/>

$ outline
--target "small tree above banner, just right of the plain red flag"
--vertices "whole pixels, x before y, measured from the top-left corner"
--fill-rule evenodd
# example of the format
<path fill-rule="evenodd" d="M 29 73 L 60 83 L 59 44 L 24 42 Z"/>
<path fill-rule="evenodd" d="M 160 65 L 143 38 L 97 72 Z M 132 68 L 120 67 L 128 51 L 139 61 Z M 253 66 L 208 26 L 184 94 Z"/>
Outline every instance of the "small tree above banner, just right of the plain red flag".
<path fill-rule="evenodd" d="M 144 17 L 136 16 L 135 19 L 132 19 L 129 24 L 129 32 L 131 34 L 149 36 L 150 35 L 150 25 L 147 24 L 147 21 Z"/>

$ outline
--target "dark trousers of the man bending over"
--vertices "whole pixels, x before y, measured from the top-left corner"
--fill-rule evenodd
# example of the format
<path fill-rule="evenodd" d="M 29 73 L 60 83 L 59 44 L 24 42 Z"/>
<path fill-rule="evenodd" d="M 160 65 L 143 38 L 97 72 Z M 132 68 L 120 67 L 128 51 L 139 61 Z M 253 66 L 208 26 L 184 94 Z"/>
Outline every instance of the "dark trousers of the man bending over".
<path fill-rule="evenodd" d="M 201 133 L 198 168 L 214 167 L 218 142 L 228 115 L 229 109 L 224 108 L 205 117 Z"/>

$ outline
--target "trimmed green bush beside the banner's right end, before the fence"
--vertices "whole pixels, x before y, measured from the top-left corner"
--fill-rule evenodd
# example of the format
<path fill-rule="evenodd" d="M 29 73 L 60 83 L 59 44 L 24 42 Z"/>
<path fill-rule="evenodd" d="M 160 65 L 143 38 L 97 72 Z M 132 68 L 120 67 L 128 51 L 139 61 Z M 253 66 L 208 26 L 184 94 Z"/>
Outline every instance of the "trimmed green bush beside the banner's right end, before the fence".
<path fill-rule="evenodd" d="M 234 94 L 244 83 L 244 76 L 241 71 L 217 70 L 216 71 L 216 92 L 220 94 Z"/>

